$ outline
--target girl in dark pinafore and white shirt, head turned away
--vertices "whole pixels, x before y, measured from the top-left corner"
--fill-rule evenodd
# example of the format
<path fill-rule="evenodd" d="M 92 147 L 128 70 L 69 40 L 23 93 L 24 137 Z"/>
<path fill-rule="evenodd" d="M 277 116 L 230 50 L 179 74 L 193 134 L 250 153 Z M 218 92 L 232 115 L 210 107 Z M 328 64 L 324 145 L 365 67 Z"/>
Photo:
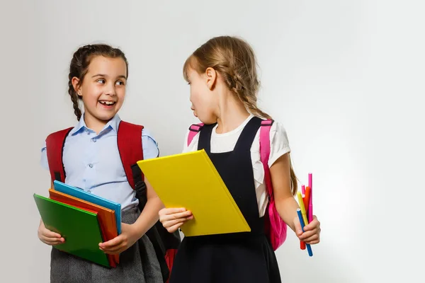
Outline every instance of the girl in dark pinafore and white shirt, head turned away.
<path fill-rule="evenodd" d="M 259 130 L 261 121 L 270 117 L 256 106 L 259 81 L 254 52 L 239 38 L 214 37 L 188 57 L 183 76 L 191 86 L 193 114 L 204 123 L 192 139 L 188 139 L 188 132 L 183 151 L 205 149 L 251 232 L 184 237 L 170 283 L 281 282 L 276 255 L 264 233 L 268 195 Z M 297 179 L 290 163 L 290 146 L 278 122 L 271 126 L 270 146 L 268 167 L 279 216 L 300 240 L 319 243 L 315 216 L 302 232 L 293 197 Z M 169 232 L 193 217 L 196 219 L 184 208 L 159 212 L 159 220 Z"/>

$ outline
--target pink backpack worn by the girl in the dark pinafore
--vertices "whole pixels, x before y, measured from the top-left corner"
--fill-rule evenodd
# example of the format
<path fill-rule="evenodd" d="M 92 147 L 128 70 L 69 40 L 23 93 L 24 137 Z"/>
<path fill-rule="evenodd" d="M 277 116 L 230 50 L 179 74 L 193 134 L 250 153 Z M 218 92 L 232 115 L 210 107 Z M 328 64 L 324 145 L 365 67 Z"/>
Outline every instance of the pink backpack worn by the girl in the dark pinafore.
<path fill-rule="evenodd" d="M 286 231 L 288 226 L 280 218 L 276 209 L 274 197 L 273 197 L 273 185 L 271 183 L 270 169 L 268 168 L 268 157 L 270 156 L 270 128 L 273 125 L 273 120 L 261 121 L 260 128 L 260 156 L 261 163 L 264 168 L 264 180 L 266 181 L 266 188 L 268 192 L 268 207 L 266 211 L 266 235 L 271 241 L 271 247 L 273 250 L 277 250 L 286 240 Z M 191 144 L 193 137 L 198 134 L 200 129 L 203 127 L 203 123 L 191 125 L 190 132 L 188 134 L 188 145 Z"/>

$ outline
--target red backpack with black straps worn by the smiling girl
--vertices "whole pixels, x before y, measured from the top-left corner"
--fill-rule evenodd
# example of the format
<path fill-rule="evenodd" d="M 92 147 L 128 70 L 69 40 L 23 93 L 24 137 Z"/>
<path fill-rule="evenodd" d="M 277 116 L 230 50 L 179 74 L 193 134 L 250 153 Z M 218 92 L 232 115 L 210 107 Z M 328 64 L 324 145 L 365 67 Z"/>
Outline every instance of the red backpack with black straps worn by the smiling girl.
<path fill-rule="evenodd" d="M 142 212 L 147 202 L 146 184 L 137 161 L 143 159 L 142 149 L 142 125 L 134 125 L 121 121 L 118 127 L 117 141 L 121 162 L 123 163 L 125 175 L 128 183 L 136 190 L 136 197 L 139 199 L 139 209 Z M 59 132 L 50 134 L 46 139 L 47 161 L 49 163 L 50 175 L 53 180 L 62 183 L 65 181 L 65 171 L 62 161 L 63 147 L 72 127 L 62 129 Z M 164 282 L 168 282 L 177 248 L 181 242 L 179 231 L 169 233 L 161 222 L 157 221 L 146 235 L 154 246 L 155 253 L 161 267 Z"/>

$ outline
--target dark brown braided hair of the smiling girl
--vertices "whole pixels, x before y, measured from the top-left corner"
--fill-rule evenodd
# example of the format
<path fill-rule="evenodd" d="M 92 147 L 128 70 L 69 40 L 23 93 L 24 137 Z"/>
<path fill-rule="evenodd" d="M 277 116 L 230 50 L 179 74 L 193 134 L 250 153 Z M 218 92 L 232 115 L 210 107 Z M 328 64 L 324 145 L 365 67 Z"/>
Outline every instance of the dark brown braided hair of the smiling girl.
<path fill-rule="evenodd" d="M 68 93 L 71 96 L 72 104 L 74 106 L 74 114 L 77 116 L 77 120 L 81 118 L 81 109 L 79 108 L 79 99 L 81 96 L 77 94 L 72 86 L 72 78 L 77 77 L 79 79 L 79 86 L 83 83 L 84 76 L 86 76 L 87 71 L 89 71 L 89 65 L 91 59 L 96 56 L 103 56 L 108 58 L 122 58 L 127 66 L 127 76 L 128 76 L 128 62 L 125 58 L 125 54 L 118 48 L 111 47 L 106 44 L 96 44 L 96 45 L 84 45 L 79 47 L 79 49 L 74 52 L 72 56 L 71 64 L 69 64 L 69 75 L 68 75 Z"/>

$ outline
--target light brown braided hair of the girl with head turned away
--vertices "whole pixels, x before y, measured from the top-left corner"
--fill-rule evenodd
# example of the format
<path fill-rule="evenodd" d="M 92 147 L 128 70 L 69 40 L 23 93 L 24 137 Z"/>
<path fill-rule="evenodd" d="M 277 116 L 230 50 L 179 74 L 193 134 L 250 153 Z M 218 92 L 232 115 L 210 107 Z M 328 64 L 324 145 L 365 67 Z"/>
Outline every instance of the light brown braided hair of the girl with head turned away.
<path fill-rule="evenodd" d="M 213 37 L 191 54 L 183 66 L 188 81 L 188 69 L 203 74 L 211 67 L 223 78 L 227 87 L 244 103 L 245 108 L 261 118 L 271 117 L 257 107 L 260 82 L 257 78 L 256 57 L 249 44 L 237 37 Z M 297 177 L 290 161 L 290 180 L 293 195 L 297 192 Z"/>

